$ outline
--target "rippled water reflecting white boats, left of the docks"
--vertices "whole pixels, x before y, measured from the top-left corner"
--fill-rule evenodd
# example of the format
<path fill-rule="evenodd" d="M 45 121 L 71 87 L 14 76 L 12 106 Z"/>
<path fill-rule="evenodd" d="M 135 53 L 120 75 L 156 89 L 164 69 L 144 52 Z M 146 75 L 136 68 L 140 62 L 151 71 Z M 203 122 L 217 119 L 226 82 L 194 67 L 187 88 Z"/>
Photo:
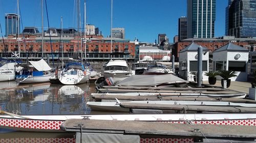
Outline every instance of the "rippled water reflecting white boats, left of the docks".
<path fill-rule="evenodd" d="M 86 102 L 92 92 L 94 85 L 87 83 L 21 85 L 0 90 L 0 106 L 18 115 L 89 114 Z"/>

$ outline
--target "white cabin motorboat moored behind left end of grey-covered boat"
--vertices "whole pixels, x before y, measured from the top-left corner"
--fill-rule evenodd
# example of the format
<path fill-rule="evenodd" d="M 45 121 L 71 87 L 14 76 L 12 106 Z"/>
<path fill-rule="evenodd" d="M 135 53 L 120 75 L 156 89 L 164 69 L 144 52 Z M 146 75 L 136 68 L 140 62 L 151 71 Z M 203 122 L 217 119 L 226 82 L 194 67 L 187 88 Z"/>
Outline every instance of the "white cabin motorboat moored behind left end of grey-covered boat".
<path fill-rule="evenodd" d="M 103 65 L 103 72 L 101 72 L 105 79 L 112 77 L 114 82 L 121 81 L 132 75 L 132 70 L 126 61 L 111 60 L 106 65 Z"/>

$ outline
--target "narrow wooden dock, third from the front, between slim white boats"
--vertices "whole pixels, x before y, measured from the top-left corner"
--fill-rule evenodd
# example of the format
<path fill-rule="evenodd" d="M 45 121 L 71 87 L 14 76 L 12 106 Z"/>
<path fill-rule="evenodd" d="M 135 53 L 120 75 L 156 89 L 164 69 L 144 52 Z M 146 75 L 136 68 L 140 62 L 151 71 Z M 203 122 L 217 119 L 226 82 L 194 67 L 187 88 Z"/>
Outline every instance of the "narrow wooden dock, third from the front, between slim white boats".
<path fill-rule="evenodd" d="M 256 103 L 255 100 L 250 99 L 241 99 L 241 98 L 214 98 L 214 97 L 165 97 L 165 96 L 124 96 L 120 95 L 105 95 L 105 94 L 92 94 L 92 98 L 101 101 L 101 100 L 174 100 L 174 101 L 225 101 L 233 103 Z"/>

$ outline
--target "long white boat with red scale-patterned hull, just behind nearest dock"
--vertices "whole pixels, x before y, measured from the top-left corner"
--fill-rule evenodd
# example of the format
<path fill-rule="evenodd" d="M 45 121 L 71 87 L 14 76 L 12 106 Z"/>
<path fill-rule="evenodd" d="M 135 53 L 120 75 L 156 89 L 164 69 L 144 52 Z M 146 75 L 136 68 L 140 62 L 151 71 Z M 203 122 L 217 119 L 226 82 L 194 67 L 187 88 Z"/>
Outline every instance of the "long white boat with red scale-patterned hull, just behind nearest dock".
<path fill-rule="evenodd" d="M 63 132 L 60 125 L 67 119 L 83 116 L 25 116 L 31 119 L 0 116 L 0 128 L 34 132 Z M 151 121 L 178 124 L 209 124 L 256 126 L 256 114 L 202 114 L 202 115 L 91 115 L 90 119 Z"/>

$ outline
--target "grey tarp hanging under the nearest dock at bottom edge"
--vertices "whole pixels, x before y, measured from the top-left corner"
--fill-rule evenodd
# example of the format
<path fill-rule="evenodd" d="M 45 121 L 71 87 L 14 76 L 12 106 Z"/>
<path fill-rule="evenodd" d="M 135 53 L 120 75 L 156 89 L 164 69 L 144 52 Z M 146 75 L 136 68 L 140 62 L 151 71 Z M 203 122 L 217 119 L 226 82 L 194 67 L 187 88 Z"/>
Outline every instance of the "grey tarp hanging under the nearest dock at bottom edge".
<path fill-rule="evenodd" d="M 82 141 L 81 141 L 82 140 Z M 139 143 L 139 135 L 107 134 L 107 133 L 81 133 L 76 132 L 76 143 Z"/>

